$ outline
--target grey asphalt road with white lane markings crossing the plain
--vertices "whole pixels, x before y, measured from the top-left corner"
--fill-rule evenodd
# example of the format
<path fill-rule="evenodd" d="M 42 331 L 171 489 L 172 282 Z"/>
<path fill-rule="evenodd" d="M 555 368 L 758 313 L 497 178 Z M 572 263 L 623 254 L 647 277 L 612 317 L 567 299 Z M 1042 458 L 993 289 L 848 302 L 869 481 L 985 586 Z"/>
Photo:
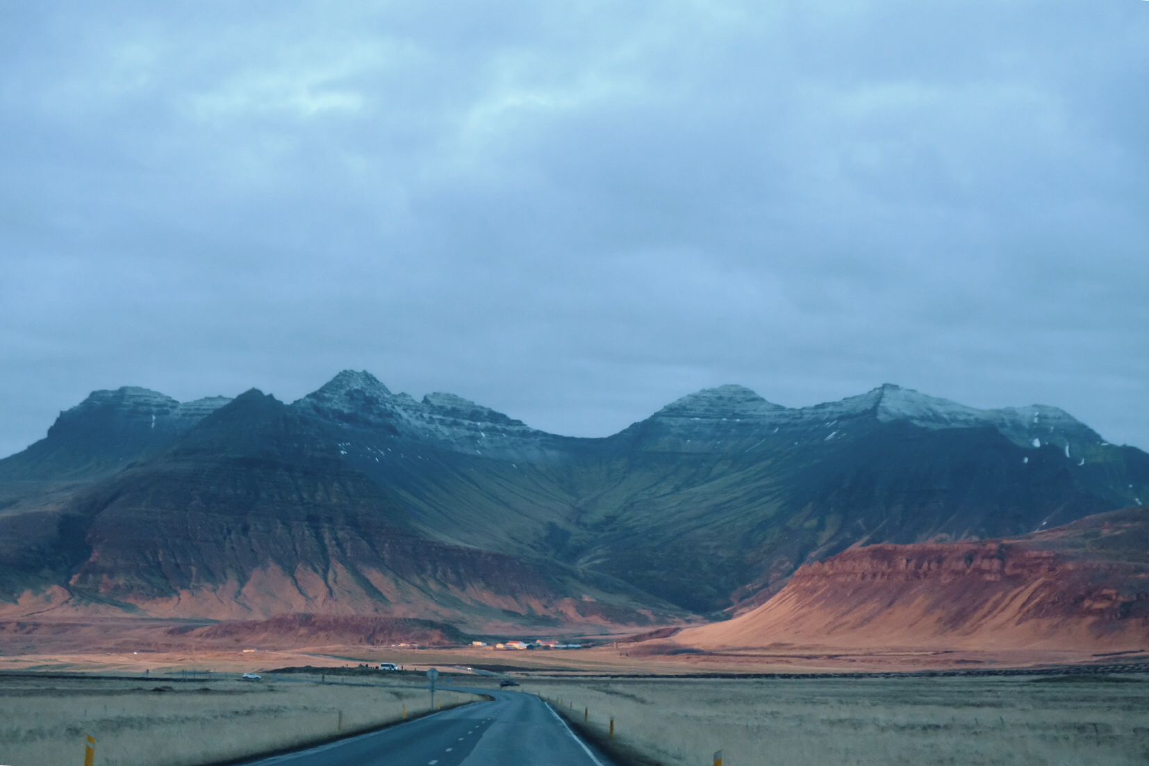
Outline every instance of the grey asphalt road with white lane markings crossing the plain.
<path fill-rule="evenodd" d="M 478 702 L 252 766 L 612 766 L 541 699 L 491 689 Z"/>

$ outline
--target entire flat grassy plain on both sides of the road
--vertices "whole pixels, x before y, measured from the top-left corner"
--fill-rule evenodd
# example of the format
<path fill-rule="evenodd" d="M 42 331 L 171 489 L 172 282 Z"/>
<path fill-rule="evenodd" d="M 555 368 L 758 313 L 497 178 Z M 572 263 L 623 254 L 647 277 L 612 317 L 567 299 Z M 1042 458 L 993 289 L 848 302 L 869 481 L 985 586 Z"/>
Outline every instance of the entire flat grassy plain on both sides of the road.
<path fill-rule="evenodd" d="M 17 665 L 15 659 L 8 658 L 9 667 Z M 1149 673 L 609 678 L 665 672 L 668 666 L 678 672 L 715 668 L 676 667 L 607 648 L 492 652 L 348 647 L 326 656 L 129 652 L 21 659 L 20 666 L 39 672 L 0 673 L 0 764 L 78 764 L 84 735 L 92 733 L 98 737 L 97 766 L 200 766 L 327 740 L 340 724 L 347 734 L 400 720 L 403 706 L 409 715 L 429 709 L 425 689 L 384 686 L 421 683 L 414 674 L 339 676 L 342 683 L 322 683 L 318 675 L 265 672 L 288 664 L 339 672 L 337 666 L 368 659 L 398 660 L 419 673 L 437 665 L 444 680 L 454 676 L 455 684 L 468 687 L 498 683 L 498 678 L 458 667 L 487 664 L 519 681 L 518 690 L 552 701 L 576 726 L 588 711 L 586 726 L 601 737 L 614 717 L 623 766 L 709 766 L 716 750 L 723 751 L 724 766 L 1149 761 Z M 902 659 L 902 670 L 921 670 Z M 147 678 L 141 676 L 144 667 L 151 668 Z M 180 668 L 206 667 L 216 667 L 215 680 L 180 680 Z M 820 670 L 847 667 L 855 670 L 841 664 Z M 64 673 L 80 668 L 88 674 Z M 263 681 L 238 680 L 237 671 L 260 668 Z M 109 674 L 128 678 L 100 678 Z M 475 698 L 440 695 L 445 704 Z"/>

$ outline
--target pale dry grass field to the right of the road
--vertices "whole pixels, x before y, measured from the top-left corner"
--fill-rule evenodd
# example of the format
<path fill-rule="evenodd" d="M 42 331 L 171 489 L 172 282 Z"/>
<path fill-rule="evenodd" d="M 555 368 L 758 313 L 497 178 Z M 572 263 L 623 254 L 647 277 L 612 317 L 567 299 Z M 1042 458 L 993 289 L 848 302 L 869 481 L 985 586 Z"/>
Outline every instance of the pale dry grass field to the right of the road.
<path fill-rule="evenodd" d="M 638 763 L 1096 766 L 1149 760 L 1146 676 L 524 680 Z M 561 702 L 560 702 L 561 701 Z"/>

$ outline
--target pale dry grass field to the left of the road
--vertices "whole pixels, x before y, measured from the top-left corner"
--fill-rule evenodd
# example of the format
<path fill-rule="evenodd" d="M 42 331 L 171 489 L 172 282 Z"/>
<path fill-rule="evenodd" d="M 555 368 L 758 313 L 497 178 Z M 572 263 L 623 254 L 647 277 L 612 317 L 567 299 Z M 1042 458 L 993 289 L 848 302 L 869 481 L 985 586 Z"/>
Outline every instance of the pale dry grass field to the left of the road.
<path fill-rule="evenodd" d="M 322 742 L 431 710 L 425 689 L 321 683 L 307 676 L 239 681 L 0 676 L 0 764 L 198 766 Z M 444 709 L 478 699 L 440 691 Z"/>

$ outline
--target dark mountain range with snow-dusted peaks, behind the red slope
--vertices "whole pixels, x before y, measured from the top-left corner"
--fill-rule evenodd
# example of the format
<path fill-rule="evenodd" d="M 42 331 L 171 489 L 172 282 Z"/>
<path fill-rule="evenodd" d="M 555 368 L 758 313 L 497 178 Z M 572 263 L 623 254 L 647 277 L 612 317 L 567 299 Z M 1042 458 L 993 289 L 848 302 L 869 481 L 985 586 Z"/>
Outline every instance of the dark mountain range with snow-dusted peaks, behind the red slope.
<path fill-rule="evenodd" d="M 853 547 L 1010 537 L 1149 498 L 1149 455 L 1043 405 L 885 385 L 684 396 L 602 439 L 344 371 L 284 403 L 95 392 L 0 461 L 0 616 L 725 619 Z"/>

